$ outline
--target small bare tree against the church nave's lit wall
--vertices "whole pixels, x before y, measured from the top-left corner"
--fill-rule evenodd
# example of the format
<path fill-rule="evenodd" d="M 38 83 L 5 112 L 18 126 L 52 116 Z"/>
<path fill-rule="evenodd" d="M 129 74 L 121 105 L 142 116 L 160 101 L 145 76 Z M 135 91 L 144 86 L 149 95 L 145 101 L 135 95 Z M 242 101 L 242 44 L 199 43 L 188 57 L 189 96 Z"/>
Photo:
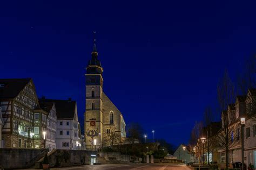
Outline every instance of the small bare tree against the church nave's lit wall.
<path fill-rule="evenodd" d="M 116 132 L 116 126 L 109 125 L 108 129 L 110 130 L 106 135 L 104 136 L 104 143 L 107 146 L 110 146 L 111 148 L 113 145 L 117 145 L 120 143 L 118 140 L 120 135 Z"/>

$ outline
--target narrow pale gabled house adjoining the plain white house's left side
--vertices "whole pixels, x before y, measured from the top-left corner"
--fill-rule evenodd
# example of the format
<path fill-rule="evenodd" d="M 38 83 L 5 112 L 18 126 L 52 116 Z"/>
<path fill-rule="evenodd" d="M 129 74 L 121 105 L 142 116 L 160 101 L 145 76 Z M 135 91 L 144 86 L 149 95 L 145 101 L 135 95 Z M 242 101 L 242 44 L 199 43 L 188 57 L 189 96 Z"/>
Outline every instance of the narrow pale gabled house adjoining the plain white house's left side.
<path fill-rule="evenodd" d="M 45 97 L 39 99 L 40 107 L 45 110 L 48 115 L 46 119 L 46 141 L 45 146 L 51 152 L 56 148 L 56 131 L 57 131 L 57 115 L 54 102 L 47 102 Z"/>

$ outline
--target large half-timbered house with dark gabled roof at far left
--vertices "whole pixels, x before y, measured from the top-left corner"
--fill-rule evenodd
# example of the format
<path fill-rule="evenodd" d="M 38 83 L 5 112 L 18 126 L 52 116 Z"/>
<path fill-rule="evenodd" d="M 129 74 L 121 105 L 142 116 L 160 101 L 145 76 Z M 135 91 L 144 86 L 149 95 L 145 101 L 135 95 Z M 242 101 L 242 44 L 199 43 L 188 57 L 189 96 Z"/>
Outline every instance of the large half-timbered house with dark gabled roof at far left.
<path fill-rule="evenodd" d="M 34 114 L 38 104 L 32 79 L 0 79 L 4 147 L 32 147 L 31 134 L 35 131 Z M 38 139 L 42 139 L 42 130 L 36 129 Z"/>

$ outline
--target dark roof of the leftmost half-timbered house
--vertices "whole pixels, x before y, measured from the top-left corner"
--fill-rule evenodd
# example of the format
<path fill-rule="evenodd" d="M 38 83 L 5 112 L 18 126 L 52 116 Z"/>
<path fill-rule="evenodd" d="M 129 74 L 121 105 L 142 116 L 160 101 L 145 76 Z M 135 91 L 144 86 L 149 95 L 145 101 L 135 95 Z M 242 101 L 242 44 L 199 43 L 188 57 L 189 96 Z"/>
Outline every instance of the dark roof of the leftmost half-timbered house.
<path fill-rule="evenodd" d="M 12 99 L 18 96 L 32 79 L 0 79 L 0 99 Z"/>

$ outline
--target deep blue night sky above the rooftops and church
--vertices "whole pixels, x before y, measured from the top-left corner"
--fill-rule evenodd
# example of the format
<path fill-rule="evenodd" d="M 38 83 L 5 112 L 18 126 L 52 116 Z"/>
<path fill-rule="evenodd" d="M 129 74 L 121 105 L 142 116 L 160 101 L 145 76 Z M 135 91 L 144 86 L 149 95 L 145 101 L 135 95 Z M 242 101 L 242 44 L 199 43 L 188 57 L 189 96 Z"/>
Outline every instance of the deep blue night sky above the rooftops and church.
<path fill-rule="evenodd" d="M 9 3 L 9 4 L 6 4 Z M 37 94 L 85 110 L 84 68 L 97 32 L 104 91 L 127 124 L 187 143 L 214 105 L 226 68 L 235 79 L 256 51 L 249 1 L 1 1 L 2 78 L 32 77 Z"/>

